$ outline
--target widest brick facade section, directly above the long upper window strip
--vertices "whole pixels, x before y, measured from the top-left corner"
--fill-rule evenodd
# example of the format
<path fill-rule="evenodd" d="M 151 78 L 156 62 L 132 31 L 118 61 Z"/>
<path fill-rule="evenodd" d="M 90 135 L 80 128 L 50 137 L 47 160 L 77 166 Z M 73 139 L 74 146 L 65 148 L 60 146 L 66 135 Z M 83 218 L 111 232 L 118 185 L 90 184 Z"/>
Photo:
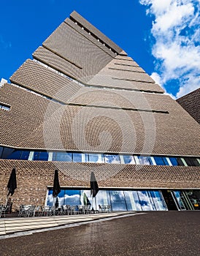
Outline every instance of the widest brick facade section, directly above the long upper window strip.
<path fill-rule="evenodd" d="M 171 97 L 128 94 L 126 91 L 120 94 L 103 92 L 85 88 L 85 93 L 77 96 L 74 102 L 88 106 L 162 109 L 168 110 L 169 114 L 61 106 L 6 84 L 1 88 L 0 100 L 11 105 L 11 110 L 0 111 L 1 144 L 25 148 L 199 155 L 199 124 Z M 177 118 L 180 115 L 182 118 Z M 188 137 L 188 131 L 192 136 Z"/>

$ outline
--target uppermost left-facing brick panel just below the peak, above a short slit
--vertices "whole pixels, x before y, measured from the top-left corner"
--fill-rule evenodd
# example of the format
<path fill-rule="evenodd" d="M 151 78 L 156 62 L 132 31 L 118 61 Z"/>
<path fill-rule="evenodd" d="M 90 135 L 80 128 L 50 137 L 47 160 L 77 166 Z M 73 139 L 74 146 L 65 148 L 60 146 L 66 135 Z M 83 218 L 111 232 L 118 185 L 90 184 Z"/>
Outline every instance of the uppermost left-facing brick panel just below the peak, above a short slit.
<path fill-rule="evenodd" d="M 84 78 L 95 75 L 112 59 L 104 50 L 66 23 L 61 23 L 58 29 L 43 42 L 43 46 L 81 67 Z"/>

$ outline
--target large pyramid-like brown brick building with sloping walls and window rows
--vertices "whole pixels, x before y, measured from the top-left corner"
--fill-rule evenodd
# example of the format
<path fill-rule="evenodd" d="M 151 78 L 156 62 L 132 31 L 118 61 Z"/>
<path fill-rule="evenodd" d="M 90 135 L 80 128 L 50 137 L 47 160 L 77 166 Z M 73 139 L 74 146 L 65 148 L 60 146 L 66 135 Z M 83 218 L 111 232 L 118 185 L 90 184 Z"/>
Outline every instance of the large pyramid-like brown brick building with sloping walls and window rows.
<path fill-rule="evenodd" d="M 200 203 L 199 124 L 136 61 L 72 12 L 0 88 L 0 203 L 91 202 L 120 210 Z"/>

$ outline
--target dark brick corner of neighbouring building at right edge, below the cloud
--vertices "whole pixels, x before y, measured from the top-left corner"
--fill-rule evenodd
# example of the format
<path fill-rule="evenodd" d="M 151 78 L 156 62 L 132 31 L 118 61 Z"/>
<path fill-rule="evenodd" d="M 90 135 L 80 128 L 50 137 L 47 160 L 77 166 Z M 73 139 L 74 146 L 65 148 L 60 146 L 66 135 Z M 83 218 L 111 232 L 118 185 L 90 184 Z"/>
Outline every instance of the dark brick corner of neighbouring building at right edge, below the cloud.
<path fill-rule="evenodd" d="M 200 89 L 180 97 L 177 102 L 200 124 Z"/>

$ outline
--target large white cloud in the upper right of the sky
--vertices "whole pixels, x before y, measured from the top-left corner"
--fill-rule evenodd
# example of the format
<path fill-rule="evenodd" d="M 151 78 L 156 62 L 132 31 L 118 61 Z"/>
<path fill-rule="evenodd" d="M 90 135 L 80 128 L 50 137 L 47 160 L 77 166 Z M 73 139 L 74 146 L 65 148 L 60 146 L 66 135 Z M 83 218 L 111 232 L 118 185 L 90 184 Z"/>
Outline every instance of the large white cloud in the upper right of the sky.
<path fill-rule="evenodd" d="M 153 79 L 161 86 L 177 80 L 176 97 L 199 88 L 199 0 L 140 0 L 140 4 L 154 17 Z"/>

